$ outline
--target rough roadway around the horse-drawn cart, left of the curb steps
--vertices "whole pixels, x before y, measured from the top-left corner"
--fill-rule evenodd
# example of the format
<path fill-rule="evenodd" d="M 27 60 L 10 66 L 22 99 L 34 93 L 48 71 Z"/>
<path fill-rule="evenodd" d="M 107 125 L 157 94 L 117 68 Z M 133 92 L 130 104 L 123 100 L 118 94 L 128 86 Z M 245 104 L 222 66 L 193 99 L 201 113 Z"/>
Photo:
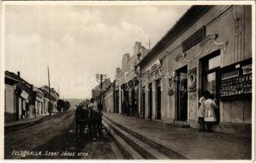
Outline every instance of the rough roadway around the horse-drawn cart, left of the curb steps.
<path fill-rule="evenodd" d="M 74 112 L 64 112 L 42 123 L 5 133 L 6 159 L 122 159 L 113 140 L 76 138 Z M 29 156 L 21 152 L 27 151 Z M 31 153 L 33 153 L 31 155 Z M 77 156 L 81 155 L 81 156 Z"/>

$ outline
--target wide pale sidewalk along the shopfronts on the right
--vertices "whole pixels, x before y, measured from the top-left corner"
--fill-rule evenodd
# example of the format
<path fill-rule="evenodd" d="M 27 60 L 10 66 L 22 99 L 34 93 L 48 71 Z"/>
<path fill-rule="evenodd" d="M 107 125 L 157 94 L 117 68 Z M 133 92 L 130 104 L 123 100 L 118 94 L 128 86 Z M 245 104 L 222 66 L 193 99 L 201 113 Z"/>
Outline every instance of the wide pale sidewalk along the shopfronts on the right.
<path fill-rule="evenodd" d="M 121 116 L 118 113 L 104 112 L 104 117 L 188 159 L 251 159 L 251 139 L 167 126 L 156 121 Z"/>

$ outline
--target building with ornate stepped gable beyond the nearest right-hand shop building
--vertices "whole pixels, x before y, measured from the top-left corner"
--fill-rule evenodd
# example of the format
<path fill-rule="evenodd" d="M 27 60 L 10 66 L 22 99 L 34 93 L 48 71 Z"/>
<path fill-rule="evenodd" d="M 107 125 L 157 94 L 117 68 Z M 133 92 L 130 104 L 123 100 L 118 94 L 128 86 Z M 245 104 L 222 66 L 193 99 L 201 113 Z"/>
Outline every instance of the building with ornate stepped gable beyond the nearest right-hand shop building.
<path fill-rule="evenodd" d="M 126 115 L 129 112 L 130 116 L 139 117 L 139 82 L 135 66 L 147 54 L 148 49 L 141 42 L 135 42 L 134 54 L 123 55 L 121 68 L 117 68 L 114 80 L 114 112 Z M 130 108 L 125 107 L 125 102 L 130 104 Z"/>

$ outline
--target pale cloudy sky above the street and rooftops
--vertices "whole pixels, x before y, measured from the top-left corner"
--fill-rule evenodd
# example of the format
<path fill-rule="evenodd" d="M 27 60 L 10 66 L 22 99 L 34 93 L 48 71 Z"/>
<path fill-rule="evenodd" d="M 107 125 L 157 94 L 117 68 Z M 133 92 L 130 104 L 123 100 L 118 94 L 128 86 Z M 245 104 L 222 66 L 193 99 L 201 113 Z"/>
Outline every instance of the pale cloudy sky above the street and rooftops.
<path fill-rule="evenodd" d="M 96 73 L 113 81 L 135 42 L 151 47 L 189 6 L 6 5 L 5 69 L 60 98 L 90 98 Z"/>

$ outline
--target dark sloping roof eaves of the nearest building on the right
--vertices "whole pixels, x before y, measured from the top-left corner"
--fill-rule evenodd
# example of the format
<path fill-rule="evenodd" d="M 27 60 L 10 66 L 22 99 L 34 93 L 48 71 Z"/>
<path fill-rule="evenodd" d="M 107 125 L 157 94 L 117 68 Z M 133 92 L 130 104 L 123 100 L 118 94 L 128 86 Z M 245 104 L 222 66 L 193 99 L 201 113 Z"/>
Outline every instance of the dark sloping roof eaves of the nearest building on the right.
<path fill-rule="evenodd" d="M 214 5 L 196 5 L 192 6 L 186 11 L 183 16 L 174 24 L 174 26 L 166 33 L 164 37 L 161 38 L 155 46 L 152 47 L 152 50 L 148 52 L 148 55 L 139 62 L 139 67 L 143 68 L 147 64 L 149 59 L 152 59 L 153 56 L 164 49 L 166 44 L 174 42 L 183 32 L 192 26 L 197 20 L 199 20 L 205 13 L 210 11 Z"/>

